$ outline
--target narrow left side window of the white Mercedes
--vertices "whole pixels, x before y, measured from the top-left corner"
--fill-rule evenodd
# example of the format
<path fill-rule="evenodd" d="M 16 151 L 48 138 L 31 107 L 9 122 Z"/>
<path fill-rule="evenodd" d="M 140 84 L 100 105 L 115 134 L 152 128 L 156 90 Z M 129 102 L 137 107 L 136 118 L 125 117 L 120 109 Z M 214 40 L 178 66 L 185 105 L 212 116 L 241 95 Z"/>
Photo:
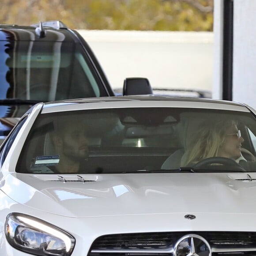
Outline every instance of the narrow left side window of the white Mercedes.
<path fill-rule="evenodd" d="M 4 141 L 4 144 L 1 146 L 0 149 L 0 166 L 4 163 L 4 160 L 11 148 L 12 143 L 14 142 L 19 130 L 22 128 L 23 124 L 25 123 L 27 116 L 23 117 L 19 120 L 19 122 L 15 125 L 12 131 L 9 133 L 8 138 Z"/>

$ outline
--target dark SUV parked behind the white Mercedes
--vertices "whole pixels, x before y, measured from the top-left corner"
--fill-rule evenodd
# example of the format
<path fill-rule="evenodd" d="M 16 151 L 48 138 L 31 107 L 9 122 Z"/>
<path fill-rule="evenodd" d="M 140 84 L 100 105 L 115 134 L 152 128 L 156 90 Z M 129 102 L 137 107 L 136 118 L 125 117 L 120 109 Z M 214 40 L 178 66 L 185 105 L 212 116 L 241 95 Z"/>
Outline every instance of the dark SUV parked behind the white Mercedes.
<path fill-rule="evenodd" d="M 1 139 L 37 102 L 103 96 L 114 92 L 77 31 L 60 21 L 0 25 Z"/>

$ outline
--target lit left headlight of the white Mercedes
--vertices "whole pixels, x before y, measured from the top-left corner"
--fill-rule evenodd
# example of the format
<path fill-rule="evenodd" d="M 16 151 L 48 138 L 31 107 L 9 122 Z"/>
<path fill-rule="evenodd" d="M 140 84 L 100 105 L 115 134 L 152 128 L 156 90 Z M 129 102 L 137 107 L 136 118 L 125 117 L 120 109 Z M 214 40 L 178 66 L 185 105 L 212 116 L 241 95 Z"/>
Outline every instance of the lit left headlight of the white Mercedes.
<path fill-rule="evenodd" d="M 5 222 L 5 235 L 11 246 L 33 255 L 70 256 L 75 238 L 38 218 L 11 213 Z"/>

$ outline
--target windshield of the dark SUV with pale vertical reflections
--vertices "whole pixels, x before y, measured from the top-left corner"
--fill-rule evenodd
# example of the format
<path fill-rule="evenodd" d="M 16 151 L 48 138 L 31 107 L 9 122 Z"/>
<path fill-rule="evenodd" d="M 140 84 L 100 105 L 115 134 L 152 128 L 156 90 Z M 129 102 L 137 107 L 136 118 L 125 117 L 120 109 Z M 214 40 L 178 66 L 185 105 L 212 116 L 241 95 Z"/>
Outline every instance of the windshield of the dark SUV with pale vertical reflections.
<path fill-rule="evenodd" d="M 49 102 L 107 96 L 78 43 L 0 41 L 0 49 L 2 99 Z"/>

